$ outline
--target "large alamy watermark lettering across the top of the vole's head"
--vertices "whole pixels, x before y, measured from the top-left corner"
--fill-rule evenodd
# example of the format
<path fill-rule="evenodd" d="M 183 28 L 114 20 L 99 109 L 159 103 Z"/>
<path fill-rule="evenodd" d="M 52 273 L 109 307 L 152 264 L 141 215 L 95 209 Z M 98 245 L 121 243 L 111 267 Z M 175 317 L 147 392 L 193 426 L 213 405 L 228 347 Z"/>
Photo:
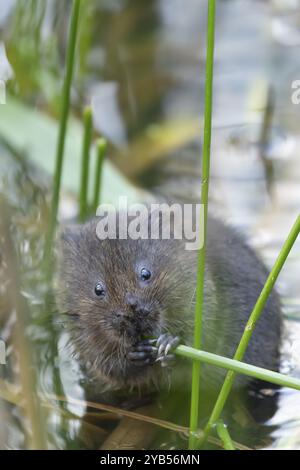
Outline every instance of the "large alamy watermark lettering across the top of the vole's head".
<path fill-rule="evenodd" d="M 101 204 L 96 232 L 100 240 L 184 240 L 186 250 L 199 250 L 204 242 L 202 204 L 130 204 L 120 197 L 118 208 Z"/>

